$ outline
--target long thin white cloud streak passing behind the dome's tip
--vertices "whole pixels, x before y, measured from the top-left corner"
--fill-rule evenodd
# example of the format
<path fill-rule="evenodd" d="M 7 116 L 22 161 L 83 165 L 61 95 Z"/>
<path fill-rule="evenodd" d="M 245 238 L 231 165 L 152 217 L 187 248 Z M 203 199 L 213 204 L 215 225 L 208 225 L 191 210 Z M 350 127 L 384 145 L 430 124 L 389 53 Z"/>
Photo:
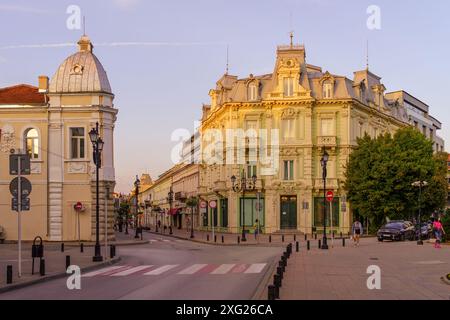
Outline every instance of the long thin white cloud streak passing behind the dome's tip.
<path fill-rule="evenodd" d="M 2 46 L 0 50 L 11 49 L 40 49 L 40 48 L 62 48 L 74 47 L 75 43 L 53 43 L 53 44 L 20 44 Z M 158 42 L 158 41 L 144 41 L 144 42 L 104 42 L 94 43 L 96 47 L 191 47 L 191 46 L 223 46 L 225 42 Z"/>

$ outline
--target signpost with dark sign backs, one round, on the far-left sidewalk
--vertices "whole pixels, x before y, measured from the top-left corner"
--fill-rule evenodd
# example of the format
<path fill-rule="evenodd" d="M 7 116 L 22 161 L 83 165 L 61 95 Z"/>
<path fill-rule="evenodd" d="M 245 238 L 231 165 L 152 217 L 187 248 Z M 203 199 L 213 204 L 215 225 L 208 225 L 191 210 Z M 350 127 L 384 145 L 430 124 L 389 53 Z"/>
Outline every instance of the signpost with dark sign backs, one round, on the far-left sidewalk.
<path fill-rule="evenodd" d="M 30 162 L 30 156 L 27 154 L 12 154 L 9 157 L 9 174 L 17 176 L 11 181 L 9 190 L 13 196 L 11 209 L 17 212 L 19 278 L 22 277 L 22 211 L 30 210 L 30 198 L 28 196 L 32 191 L 31 182 L 22 176 L 31 174 Z"/>

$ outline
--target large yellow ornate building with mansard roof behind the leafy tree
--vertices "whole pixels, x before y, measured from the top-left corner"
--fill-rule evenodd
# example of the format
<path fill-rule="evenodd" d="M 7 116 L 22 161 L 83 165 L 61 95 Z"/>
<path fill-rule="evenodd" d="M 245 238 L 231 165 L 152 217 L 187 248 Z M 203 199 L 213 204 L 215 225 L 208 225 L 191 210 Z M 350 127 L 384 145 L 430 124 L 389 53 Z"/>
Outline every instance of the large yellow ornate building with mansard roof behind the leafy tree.
<path fill-rule="evenodd" d="M 198 191 L 201 199 L 216 200 L 220 205 L 217 210 L 200 209 L 204 228 L 214 225 L 237 233 L 244 225 L 252 230 L 259 220 L 267 233 L 323 230 L 320 160 L 325 149 L 329 154 L 327 190 L 335 194 L 332 204 L 327 204 L 330 209 L 326 223 L 328 227 L 332 224 L 336 232 L 348 232 L 353 216 L 343 182 L 345 165 L 357 138 L 366 133 L 372 137 L 394 133 L 420 118 L 424 134 L 431 134 L 436 149 L 444 147 L 436 135 L 440 123 L 428 115 L 427 106 L 418 99 L 403 91 L 386 93 L 381 78 L 368 69 L 354 72 L 353 79 L 323 72 L 306 62 L 302 45 L 278 47 L 271 74 L 238 79 L 226 73 L 209 95 L 211 104 L 203 106 L 200 128 Z M 420 115 L 414 107 L 420 109 Z M 261 148 L 256 158 L 249 159 L 251 147 L 246 143 L 251 137 L 245 135 L 241 146 L 230 143 L 235 139 L 230 129 L 263 129 L 269 135 L 277 132 L 278 138 L 268 139 L 263 147 L 268 154 L 272 152 L 272 161 L 260 161 Z M 217 134 L 223 139 L 214 140 Z M 257 139 L 261 141 L 261 137 Z M 244 162 L 236 160 L 239 149 L 245 154 Z M 267 171 L 268 167 L 275 170 Z M 230 179 L 240 178 L 242 172 L 247 180 L 257 176 L 256 190 L 246 192 L 245 198 L 242 192 L 233 190 Z M 262 193 L 259 205 L 257 192 Z"/>

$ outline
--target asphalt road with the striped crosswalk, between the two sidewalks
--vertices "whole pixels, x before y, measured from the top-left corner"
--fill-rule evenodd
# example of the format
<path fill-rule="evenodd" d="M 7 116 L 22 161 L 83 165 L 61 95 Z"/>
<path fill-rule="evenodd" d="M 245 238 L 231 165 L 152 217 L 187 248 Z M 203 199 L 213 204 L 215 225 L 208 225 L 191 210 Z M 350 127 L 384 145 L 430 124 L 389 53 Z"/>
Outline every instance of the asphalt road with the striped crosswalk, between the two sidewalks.
<path fill-rule="evenodd" d="M 67 278 L 0 294 L 8 299 L 251 299 L 271 264 L 276 247 L 217 247 L 159 235 L 147 245 L 117 248 L 120 263 L 82 275 L 81 290 L 67 289 Z"/>

